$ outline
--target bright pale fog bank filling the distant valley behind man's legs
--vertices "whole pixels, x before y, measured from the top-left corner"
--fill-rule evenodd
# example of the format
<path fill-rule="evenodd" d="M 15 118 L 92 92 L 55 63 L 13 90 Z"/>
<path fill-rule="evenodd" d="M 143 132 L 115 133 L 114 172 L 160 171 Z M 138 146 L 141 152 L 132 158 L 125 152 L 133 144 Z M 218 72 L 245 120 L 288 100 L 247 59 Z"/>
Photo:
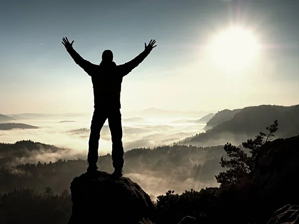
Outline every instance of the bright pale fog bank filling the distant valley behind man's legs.
<path fill-rule="evenodd" d="M 10 130 L 7 130 L 6 127 L 2 128 L 4 121 L 1 121 L 0 136 L 2 142 L 14 143 L 18 140 L 30 139 L 45 144 L 54 144 L 57 147 L 71 148 L 74 154 L 81 152 L 86 154 L 92 114 L 46 114 L 44 118 L 41 114 L 20 115 L 12 114 L 12 118 L 16 117 L 18 119 L 5 121 L 6 126 L 9 125 L 7 123 L 23 123 L 38 128 L 21 127 L 21 124 L 19 124 L 20 128 L 12 126 Z M 122 117 L 125 151 L 138 147 L 167 145 L 196 134 L 205 126 L 204 122 L 197 121 L 200 116 L 203 116 L 202 112 L 196 114 L 197 116 L 195 114 L 185 116 L 184 112 L 170 117 L 167 115 L 163 117 L 163 114 L 157 114 L 157 116 L 155 114 L 141 115 L 136 114 L 133 117 L 123 115 Z M 111 152 L 108 120 L 106 120 L 101 130 L 100 141 L 99 152 L 101 154 Z"/>

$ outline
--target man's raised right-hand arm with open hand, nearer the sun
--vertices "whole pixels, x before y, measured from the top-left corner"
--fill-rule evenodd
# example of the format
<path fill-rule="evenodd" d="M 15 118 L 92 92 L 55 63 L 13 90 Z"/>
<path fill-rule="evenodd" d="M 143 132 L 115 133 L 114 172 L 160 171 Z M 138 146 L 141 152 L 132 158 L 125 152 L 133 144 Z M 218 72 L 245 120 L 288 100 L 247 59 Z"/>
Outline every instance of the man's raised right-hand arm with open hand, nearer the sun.
<path fill-rule="evenodd" d="M 157 45 L 155 44 L 155 40 L 150 40 L 149 45 L 145 43 L 145 50 L 141 52 L 136 58 L 133 60 L 119 65 L 119 68 L 123 71 L 123 76 L 128 75 L 133 69 L 135 69 L 145 58 L 149 55 L 150 51 L 156 47 Z M 154 46 L 153 46 L 154 45 Z"/>

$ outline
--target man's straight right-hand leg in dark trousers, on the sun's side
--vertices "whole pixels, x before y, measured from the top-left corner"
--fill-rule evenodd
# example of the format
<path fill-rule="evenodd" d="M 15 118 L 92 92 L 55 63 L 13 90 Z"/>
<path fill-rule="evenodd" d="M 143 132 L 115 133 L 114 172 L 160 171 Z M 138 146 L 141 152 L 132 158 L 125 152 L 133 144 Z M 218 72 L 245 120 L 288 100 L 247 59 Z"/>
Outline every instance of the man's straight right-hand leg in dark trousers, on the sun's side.
<path fill-rule="evenodd" d="M 120 109 L 112 110 L 108 114 L 108 122 L 112 140 L 112 164 L 115 169 L 115 174 L 122 176 L 122 169 L 124 166 L 124 148 L 122 142 L 122 114 Z"/>

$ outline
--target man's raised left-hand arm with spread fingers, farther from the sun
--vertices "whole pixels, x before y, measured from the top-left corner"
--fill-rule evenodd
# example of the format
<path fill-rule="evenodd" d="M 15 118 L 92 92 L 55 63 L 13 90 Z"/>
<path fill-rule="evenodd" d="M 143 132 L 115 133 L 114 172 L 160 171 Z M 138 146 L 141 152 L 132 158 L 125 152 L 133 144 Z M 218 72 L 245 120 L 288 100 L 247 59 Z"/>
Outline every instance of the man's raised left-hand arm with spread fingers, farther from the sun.
<path fill-rule="evenodd" d="M 84 58 L 82 58 L 73 48 L 73 43 L 74 40 L 72 41 L 72 43 L 70 43 L 67 39 L 67 37 L 63 37 L 62 38 L 62 44 L 65 46 L 67 52 L 70 54 L 70 56 L 74 59 L 74 61 L 76 62 L 77 65 L 79 65 L 82 69 L 84 69 L 85 72 L 87 72 L 89 75 L 92 72 L 92 69 L 94 66 L 96 66 L 95 64 L 92 64 L 91 62 L 85 60 Z"/>

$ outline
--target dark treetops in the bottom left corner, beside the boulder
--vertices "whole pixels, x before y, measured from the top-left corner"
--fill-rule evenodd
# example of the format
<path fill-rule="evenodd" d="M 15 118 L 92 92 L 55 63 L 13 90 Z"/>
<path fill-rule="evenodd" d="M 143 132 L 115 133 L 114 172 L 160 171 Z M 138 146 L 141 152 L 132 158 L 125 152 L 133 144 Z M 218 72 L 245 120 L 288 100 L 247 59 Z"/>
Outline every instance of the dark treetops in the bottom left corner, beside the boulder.
<path fill-rule="evenodd" d="M 53 194 L 50 187 L 43 193 L 18 189 L 0 193 L 1 224 L 67 224 L 72 213 L 69 191 Z"/>

